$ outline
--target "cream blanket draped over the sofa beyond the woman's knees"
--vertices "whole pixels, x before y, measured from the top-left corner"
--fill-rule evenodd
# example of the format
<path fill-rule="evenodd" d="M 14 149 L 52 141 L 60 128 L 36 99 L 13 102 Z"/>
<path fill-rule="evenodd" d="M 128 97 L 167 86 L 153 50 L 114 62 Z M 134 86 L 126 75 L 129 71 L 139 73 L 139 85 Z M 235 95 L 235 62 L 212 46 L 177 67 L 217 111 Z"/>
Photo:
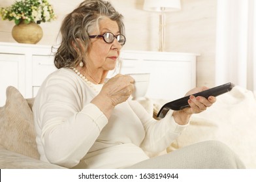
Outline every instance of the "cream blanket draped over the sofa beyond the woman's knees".
<path fill-rule="evenodd" d="M 165 101 L 153 101 L 156 113 Z M 253 92 L 234 86 L 217 97 L 216 103 L 200 114 L 193 114 L 189 127 L 172 143 L 168 152 L 204 140 L 219 140 L 244 161 L 256 168 L 256 99 Z"/>

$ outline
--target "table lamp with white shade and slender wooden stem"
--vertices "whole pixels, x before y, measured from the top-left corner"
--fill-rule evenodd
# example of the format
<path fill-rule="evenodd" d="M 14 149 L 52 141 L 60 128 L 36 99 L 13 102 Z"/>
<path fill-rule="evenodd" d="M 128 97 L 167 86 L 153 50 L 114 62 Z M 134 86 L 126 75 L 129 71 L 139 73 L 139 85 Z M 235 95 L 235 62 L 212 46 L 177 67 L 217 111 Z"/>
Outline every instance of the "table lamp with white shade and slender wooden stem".
<path fill-rule="evenodd" d="M 165 12 L 180 10 L 180 0 L 144 0 L 144 10 L 161 12 L 159 19 L 159 51 L 165 49 Z"/>

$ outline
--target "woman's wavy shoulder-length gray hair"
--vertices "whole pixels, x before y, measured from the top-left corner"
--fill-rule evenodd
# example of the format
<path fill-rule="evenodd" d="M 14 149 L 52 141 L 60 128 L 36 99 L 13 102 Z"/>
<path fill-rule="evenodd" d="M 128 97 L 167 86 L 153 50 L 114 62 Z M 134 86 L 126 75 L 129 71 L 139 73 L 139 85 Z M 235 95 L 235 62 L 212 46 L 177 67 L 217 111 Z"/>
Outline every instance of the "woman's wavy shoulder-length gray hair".
<path fill-rule="evenodd" d="M 54 57 L 58 69 L 78 66 L 84 59 L 82 50 L 88 51 L 91 43 L 89 32 L 99 27 L 99 21 L 106 17 L 116 21 L 120 34 L 125 34 L 123 16 L 108 1 L 86 0 L 65 16 L 59 32 L 61 44 Z"/>

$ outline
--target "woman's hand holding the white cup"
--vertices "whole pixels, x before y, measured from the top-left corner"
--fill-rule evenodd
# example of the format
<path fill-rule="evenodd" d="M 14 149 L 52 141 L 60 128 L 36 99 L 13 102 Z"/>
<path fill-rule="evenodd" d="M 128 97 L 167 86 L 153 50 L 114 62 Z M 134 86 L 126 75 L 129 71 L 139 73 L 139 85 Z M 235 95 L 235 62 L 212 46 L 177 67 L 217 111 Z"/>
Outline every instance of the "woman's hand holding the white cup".
<path fill-rule="evenodd" d="M 108 80 L 91 103 L 97 105 L 99 109 L 110 117 L 112 109 L 120 103 L 126 101 L 134 89 L 134 79 L 129 75 L 118 74 Z"/>

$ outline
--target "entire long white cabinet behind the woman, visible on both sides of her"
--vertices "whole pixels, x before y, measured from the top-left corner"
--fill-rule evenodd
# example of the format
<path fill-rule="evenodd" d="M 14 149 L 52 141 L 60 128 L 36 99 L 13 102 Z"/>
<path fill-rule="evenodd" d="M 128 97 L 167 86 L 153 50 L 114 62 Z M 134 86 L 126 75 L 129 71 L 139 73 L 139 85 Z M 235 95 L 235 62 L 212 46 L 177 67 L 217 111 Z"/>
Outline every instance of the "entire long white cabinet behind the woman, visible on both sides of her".
<path fill-rule="evenodd" d="M 108 73 L 151 73 L 147 96 L 176 99 L 196 86 L 196 57 L 192 53 L 122 51 L 120 69 Z M 15 86 L 24 98 L 35 97 L 42 81 L 54 72 L 50 45 L 0 42 L 0 106 L 5 105 L 7 86 Z"/>

